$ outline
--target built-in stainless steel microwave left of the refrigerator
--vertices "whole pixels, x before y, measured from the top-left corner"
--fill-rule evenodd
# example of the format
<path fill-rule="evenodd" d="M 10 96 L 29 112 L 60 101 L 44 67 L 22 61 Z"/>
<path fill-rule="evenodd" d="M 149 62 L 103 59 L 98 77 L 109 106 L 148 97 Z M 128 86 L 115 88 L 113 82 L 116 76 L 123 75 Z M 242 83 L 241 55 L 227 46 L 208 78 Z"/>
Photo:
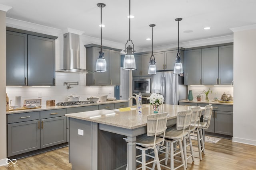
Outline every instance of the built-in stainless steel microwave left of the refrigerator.
<path fill-rule="evenodd" d="M 151 78 L 133 79 L 132 92 L 151 93 Z"/>

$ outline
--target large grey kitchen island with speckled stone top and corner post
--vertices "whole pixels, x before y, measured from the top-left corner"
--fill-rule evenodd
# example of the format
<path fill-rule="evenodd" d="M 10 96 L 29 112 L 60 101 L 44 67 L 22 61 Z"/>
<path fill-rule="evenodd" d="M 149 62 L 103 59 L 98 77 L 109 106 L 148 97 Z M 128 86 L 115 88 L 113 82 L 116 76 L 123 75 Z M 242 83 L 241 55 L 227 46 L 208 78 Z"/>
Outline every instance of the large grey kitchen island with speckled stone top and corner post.
<path fill-rule="evenodd" d="M 190 108 L 163 104 L 159 113 L 167 111 L 167 126 L 172 126 L 176 124 L 177 112 Z M 137 110 L 103 109 L 66 114 L 70 118 L 69 156 L 72 169 L 125 169 L 126 154 L 128 170 L 136 169 L 136 137 L 146 133 L 147 115 L 150 114 L 154 113 L 149 104 L 142 105 L 141 117 Z"/>

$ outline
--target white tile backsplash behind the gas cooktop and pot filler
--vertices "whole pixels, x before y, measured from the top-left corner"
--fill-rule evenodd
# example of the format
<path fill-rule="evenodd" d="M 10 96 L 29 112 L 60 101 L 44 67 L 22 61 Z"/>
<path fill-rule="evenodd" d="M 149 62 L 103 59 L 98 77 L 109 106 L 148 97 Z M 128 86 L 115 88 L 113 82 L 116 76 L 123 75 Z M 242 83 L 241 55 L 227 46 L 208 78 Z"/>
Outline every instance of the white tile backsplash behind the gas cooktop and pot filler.
<path fill-rule="evenodd" d="M 79 85 L 71 85 L 72 88 L 67 89 L 67 85 L 63 84 L 64 82 L 79 82 Z M 9 100 L 12 100 L 11 106 L 15 103 L 15 96 L 21 96 L 22 103 L 28 99 L 42 99 L 42 105 L 45 106 L 46 100 L 55 100 L 56 104 L 67 102 L 66 96 L 71 94 L 80 96 L 79 100 L 86 100 L 91 96 L 108 95 L 108 97 L 114 97 L 114 87 L 86 86 L 86 74 L 56 72 L 56 86 L 6 87 L 6 93 Z"/>

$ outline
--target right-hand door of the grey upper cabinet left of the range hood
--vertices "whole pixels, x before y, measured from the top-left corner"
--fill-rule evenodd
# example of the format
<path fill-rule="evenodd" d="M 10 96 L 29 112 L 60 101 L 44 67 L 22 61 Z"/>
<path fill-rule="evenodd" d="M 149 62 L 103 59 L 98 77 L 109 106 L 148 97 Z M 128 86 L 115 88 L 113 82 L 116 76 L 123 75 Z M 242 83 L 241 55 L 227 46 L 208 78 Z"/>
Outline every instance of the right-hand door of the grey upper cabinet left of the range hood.
<path fill-rule="evenodd" d="M 28 35 L 28 86 L 55 86 L 55 40 Z"/>

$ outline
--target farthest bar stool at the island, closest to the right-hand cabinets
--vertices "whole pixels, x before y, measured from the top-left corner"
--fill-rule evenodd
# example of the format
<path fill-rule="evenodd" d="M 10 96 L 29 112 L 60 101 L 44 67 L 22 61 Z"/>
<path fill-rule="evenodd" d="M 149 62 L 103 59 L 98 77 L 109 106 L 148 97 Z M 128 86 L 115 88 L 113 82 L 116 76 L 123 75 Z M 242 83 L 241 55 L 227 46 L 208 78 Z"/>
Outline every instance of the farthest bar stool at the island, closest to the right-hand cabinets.
<path fill-rule="evenodd" d="M 208 129 L 208 127 L 210 126 L 212 109 L 213 109 L 212 104 L 205 106 L 204 117 L 203 117 L 204 121 L 199 122 L 198 127 L 196 129 L 198 152 L 199 152 L 200 160 L 202 160 L 202 152 L 204 153 L 204 137 L 203 137 L 202 129 Z"/>

